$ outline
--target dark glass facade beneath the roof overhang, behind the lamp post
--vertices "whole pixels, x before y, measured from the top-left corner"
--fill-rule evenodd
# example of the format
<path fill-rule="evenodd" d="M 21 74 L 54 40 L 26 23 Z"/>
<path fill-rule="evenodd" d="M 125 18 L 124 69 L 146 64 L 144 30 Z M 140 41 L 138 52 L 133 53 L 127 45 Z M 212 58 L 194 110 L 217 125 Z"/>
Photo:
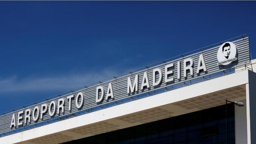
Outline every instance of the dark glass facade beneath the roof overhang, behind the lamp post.
<path fill-rule="evenodd" d="M 66 144 L 226 144 L 225 112 L 223 105 Z M 235 144 L 233 104 L 228 104 L 228 144 Z"/>

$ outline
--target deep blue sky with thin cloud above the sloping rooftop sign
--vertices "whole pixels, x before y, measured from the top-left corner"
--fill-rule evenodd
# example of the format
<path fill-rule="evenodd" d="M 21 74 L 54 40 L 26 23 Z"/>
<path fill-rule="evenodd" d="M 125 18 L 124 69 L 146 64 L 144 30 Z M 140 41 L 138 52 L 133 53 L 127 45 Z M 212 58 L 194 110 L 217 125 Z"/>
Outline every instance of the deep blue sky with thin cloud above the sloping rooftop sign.
<path fill-rule="evenodd" d="M 246 33 L 255 1 L 0 1 L 4 112 Z"/>

